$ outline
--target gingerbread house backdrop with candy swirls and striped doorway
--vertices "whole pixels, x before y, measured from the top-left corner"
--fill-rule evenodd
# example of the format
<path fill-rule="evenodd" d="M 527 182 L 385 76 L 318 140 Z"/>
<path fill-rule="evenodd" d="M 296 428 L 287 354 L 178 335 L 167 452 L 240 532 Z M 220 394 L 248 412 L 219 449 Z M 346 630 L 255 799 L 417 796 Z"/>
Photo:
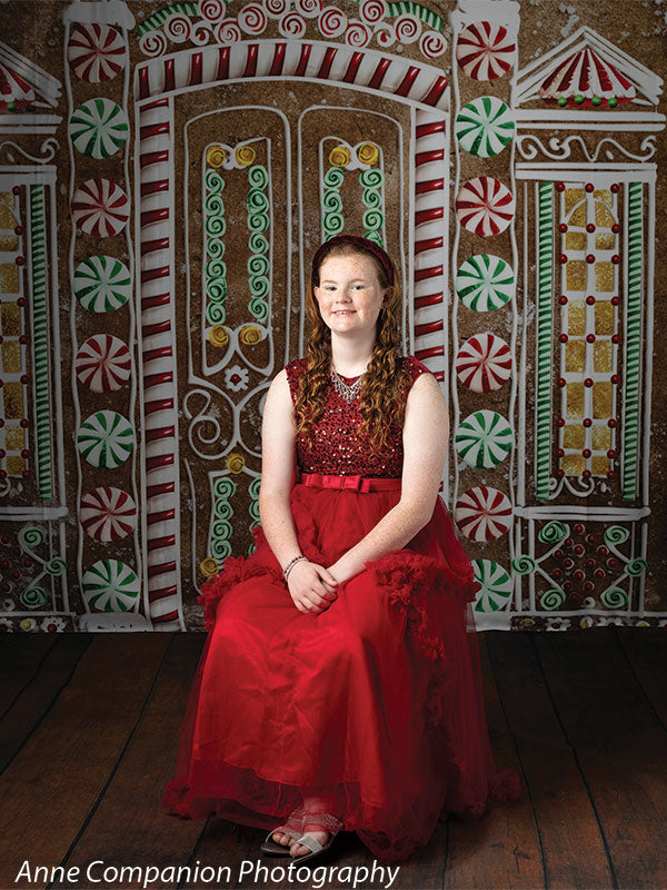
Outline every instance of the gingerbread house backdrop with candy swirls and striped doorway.
<path fill-rule="evenodd" d="M 334 2 L 0 4 L 0 629 L 202 626 L 344 229 L 447 396 L 477 626 L 667 622 L 665 11 Z"/>

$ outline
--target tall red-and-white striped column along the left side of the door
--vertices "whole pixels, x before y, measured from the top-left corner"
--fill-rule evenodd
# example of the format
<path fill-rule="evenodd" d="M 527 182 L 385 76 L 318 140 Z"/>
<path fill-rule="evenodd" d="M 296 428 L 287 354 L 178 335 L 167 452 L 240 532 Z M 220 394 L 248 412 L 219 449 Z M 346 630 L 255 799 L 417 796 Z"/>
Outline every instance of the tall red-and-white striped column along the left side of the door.
<path fill-rule="evenodd" d="M 139 108 L 139 294 L 143 540 L 153 625 L 185 629 L 179 557 L 178 395 L 173 324 L 172 108 Z"/>

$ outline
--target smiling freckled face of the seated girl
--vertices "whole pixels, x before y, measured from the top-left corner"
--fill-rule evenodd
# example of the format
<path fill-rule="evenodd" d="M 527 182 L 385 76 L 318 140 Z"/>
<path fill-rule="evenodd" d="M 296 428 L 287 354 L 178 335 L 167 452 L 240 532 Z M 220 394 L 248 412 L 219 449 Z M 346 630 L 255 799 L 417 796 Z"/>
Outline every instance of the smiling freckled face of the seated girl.
<path fill-rule="evenodd" d="M 319 279 L 315 297 L 322 320 L 332 333 L 375 332 L 387 289 L 380 286 L 372 257 L 329 256 L 320 266 Z"/>

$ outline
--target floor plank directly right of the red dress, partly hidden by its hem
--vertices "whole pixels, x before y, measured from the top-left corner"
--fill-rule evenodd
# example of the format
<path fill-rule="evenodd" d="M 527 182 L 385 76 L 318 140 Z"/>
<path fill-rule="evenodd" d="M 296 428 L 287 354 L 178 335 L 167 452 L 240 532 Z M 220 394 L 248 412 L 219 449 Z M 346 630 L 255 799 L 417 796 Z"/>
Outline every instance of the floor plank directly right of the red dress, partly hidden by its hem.
<path fill-rule="evenodd" d="M 519 772 L 521 795 L 516 801 L 489 803 L 487 812 L 478 821 L 448 820 L 449 850 L 444 887 L 452 890 L 490 887 L 535 890 L 542 887 L 545 881 L 535 814 L 487 651 L 488 635 L 499 633 L 510 632 L 485 631 L 477 634 L 487 725 L 497 763 L 512 767 Z"/>

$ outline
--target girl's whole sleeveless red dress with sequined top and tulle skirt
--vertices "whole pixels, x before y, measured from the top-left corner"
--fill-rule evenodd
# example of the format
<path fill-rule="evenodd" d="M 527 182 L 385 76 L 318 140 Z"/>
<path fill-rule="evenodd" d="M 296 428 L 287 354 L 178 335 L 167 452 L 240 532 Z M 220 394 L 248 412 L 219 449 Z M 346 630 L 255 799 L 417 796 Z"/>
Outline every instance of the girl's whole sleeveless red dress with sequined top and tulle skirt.
<path fill-rule="evenodd" d="M 430 372 L 401 360 L 407 397 Z M 306 358 L 287 365 L 292 402 L 305 372 Z M 331 386 L 315 445 L 297 438 L 310 484 L 295 484 L 291 513 L 301 553 L 326 567 L 400 498 L 401 429 L 374 456 L 356 432 L 358 403 Z M 344 478 L 329 487 L 331 476 Z M 378 478 L 394 487 L 364 482 Z M 491 752 L 470 605 L 479 584 L 440 496 L 409 544 L 367 562 L 318 615 L 295 606 L 260 526 L 253 537 L 251 555 L 228 557 L 198 597 L 208 635 L 168 812 L 269 831 L 316 789 L 371 853 L 398 861 L 428 843 L 438 818 L 477 819 L 488 800 L 519 797 L 516 771 Z"/>

